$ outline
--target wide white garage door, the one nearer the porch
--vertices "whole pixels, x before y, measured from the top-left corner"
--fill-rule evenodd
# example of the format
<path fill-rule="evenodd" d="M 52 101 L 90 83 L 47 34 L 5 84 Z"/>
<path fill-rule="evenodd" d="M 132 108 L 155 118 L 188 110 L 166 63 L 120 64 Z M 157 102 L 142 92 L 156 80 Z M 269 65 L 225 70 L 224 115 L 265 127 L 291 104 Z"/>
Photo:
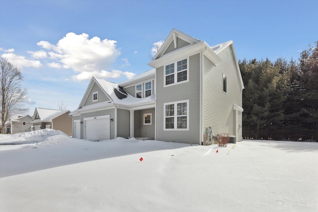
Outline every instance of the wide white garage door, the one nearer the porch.
<path fill-rule="evenodd" d="M 109 140 L 109 115 L 84 118 L 84 139 Z"/>

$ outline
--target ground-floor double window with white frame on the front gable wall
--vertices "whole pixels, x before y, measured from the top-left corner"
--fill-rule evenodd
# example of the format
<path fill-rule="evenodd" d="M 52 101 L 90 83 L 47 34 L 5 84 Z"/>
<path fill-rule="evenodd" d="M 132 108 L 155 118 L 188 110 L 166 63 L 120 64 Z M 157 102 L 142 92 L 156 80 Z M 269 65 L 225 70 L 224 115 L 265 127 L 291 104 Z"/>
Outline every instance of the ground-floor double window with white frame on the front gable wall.
<path fill-rule="evenodd" d="M 164 130 L 189 130 L 189 100 L 164 103 Z"/>

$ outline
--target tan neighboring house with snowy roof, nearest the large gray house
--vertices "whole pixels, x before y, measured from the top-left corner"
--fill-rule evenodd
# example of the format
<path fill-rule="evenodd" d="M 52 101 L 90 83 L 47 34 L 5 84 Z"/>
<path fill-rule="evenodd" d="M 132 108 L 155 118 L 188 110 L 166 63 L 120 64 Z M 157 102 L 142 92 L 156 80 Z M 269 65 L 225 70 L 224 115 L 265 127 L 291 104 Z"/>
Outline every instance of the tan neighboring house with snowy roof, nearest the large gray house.
<path fill-rule="evenodd" d="M 35 108 L 32 124 L 33 130 L 52 129 L 59 130 L 68 136 L 72 136 L 72 118 L 70 110 L 53 110 Z"/>

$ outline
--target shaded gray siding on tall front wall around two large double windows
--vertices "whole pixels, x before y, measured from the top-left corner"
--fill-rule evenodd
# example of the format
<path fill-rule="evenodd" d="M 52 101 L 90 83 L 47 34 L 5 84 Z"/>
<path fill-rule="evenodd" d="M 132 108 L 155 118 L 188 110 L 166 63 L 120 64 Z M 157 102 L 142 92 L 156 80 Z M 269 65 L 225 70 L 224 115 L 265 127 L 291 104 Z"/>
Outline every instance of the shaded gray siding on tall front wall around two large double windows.
<path fill-rule="evenodd" d="M 163 67 L 157 71 L 157 131 L 159 141 L 177 141 L 185 143 L 200 143 L 200 57 L 199 54 L 189 59 L 189 82 L 163 87 Z M 189 130 L 163 131 L 164 117 L 163 104 L 189 99 Z"/>

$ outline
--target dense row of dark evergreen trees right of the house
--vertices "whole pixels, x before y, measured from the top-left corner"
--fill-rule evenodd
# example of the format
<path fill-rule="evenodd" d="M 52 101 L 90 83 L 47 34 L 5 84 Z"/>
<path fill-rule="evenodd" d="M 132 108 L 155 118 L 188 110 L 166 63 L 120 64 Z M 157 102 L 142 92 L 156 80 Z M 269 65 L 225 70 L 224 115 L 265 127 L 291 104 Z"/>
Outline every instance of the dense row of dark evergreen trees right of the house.
<path fill-rule="evenodd" d="M 243 139 L 318 140 L 318 41 L 298 62 L 239 60 Z"/>

